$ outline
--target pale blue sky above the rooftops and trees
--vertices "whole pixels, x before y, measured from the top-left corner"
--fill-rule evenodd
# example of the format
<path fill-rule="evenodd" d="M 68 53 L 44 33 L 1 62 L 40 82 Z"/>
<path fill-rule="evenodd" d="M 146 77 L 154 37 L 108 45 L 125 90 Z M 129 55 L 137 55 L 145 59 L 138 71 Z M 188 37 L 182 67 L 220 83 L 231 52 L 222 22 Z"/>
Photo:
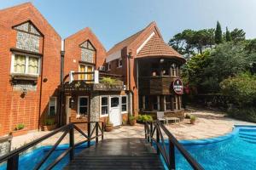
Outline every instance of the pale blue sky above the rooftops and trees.
<path fill-rule="evenodd" d="M 184 29 L 241 28 L 256 38 L 256 0 L 0 0 L 0 8 L 32 2 L 64 39 L 84 27 L 108 50 L 152 21 L 166 42 Z"/>

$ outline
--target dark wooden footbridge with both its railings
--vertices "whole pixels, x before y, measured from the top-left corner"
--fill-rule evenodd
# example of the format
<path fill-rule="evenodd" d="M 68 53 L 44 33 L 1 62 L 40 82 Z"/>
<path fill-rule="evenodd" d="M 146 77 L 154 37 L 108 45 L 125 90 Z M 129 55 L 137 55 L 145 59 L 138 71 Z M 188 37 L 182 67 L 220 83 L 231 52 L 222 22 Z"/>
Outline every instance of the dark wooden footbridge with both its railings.
<path fill-rule="evenodd" d="M 0 163 L 7 161 L 8 170 L 19 169 L 20 153 L 45 139 L 49 139 L 56 133 L 62 132 L 60 139 L 56 141 L 45 156 L 42 156 L 42 159 L 34 169 L 42 169 L 49 156 L 51 156 L 68 133 L 69 147 L 44 169 L 52 169 L 68 154 L 70 161 L 64 169 L 175 169 L 175 148 L 179 150 L 191 167 L 199 170 L 203 169 L 159 121 L 145 123 L 145 139 L 103 139 L 103 122 L 86 123 L 87 133 L 84 133 L 83 130 L 73 123 L 68 124 L 17 150 L 11 151 L 8 155 L 0 157 Z M 91 127 L 92 130 L 90 130 Z M 74 144 L 74 130 L 84 136 L 84 140 L 77 144 Z M 166 136 L 167 139 L 164 139 Z M 99 141 L 99 138 L 102 138 L 102 140 Z M 90 145 L 92 140 L 95 140 L 96 144 Z M 85 142 L 88 148 L 85 148 L 75 156 L 74 149 Z M 155 145 L 155 149 L 153 145 Z M 162 160 L 160 156 L 162 156 Z"/>

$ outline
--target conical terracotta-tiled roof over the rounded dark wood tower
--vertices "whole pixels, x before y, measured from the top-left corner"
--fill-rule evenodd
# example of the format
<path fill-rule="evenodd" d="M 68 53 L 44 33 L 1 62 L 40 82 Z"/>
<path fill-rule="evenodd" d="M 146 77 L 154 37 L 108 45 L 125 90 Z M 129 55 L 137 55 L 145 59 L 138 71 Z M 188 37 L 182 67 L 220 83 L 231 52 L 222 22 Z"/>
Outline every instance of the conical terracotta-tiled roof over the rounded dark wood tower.
<path fill-rule="evenodd" d="M 186 61 L 181 54 L 178 54 L 176 50 L 167 45 L 162 38 L 155 35 L 149 39 L 149 41 L 137 54 L 137 58 L 159 56 L 168 58 L 173 57 L 181 60 L 182 62 Z"/>

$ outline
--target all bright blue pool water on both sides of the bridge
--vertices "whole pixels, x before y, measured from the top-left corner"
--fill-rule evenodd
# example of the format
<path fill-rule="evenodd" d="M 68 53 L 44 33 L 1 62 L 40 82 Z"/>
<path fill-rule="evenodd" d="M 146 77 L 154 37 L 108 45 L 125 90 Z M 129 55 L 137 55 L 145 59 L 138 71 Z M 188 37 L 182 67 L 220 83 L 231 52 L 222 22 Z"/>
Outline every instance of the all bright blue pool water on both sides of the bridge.
<path fill-rule="evenodd" d="M 236 126 L 232 133 L 213 139 L 183 140 L 180 141 L 189 153 L 195 157 L 202 167 L 210 170 L 253 170 L 256 169 L 256 127 Z M 86 144 L 75 150 L 83 150 Z M 20 156 L 19 169 L 32 169 L 49 151 L 50 146 L 43 146 L 32 152 Z M 60 156 L 67 144 L 58 147 L 42 167 L 47 167 L 50 162 Z M 68 155 L 62 159 L 54 169 L 61 169 L 67 165 Z M 176 150 L 177 169 L 192 169 L 189 163 Z M 0 170 L 6 165 L 0 166 Z"/>

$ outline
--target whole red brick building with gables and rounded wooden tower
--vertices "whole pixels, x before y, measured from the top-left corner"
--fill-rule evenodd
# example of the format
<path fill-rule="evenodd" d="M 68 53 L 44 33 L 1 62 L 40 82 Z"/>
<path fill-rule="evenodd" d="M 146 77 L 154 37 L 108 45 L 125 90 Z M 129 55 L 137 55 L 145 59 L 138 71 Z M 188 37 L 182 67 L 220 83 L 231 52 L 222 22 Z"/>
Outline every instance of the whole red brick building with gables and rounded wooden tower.
<path fill-rule="evenodd" d="M 185 59 L 153 22 L 108 52 L 90 28 L 61 37 L 32 5 L 0 10 L 0 136 L 40 130 L 46 120 L 104 121 L 128 115 L 183 117 Z"/>

